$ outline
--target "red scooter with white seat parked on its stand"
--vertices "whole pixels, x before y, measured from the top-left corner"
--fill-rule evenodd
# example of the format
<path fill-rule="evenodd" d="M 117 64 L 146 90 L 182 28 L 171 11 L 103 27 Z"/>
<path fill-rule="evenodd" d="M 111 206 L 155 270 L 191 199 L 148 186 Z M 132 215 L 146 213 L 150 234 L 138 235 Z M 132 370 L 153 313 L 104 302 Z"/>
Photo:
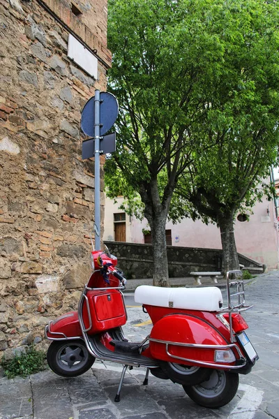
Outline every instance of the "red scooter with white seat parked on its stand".
<path fill-rule="evenodd" d="M 142 342 L 128 341 L 121 329 L 127 313 L 121 291 L 126 279 L 110 252 L 92 251 L 94 272 L 84 286 L 77 311 L 56 318 L 45 328 L 52 341 L 47 362 L 60 376 L 86 372 L 96 358 L 124 365 L 115 402 L 128 367 L 145 367 L 156 377 L 183 385 L 194 402 L 209 408 L 229 403 L 258 355 L 240 311 L 246 310 L 241 271 L 227 273 L 227 307 L 216 286 L 160 288 L 138 286 L 135 302 L 151 317 L 153 328 Z M 239 279 L 229 281 L 230 275 Z M 236 292 L 230 293 L 230 286 Z M 236 300 L 234 303 L 233 300 Z"/>

